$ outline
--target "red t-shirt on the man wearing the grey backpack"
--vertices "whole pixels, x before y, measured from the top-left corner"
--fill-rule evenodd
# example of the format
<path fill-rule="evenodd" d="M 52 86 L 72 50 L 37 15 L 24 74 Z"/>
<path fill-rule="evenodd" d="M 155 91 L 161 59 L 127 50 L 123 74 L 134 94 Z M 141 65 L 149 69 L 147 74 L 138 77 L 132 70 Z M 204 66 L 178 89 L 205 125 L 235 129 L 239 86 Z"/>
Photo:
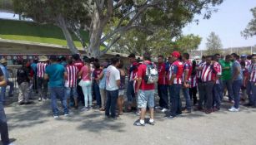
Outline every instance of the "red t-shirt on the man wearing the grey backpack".
<path fill-rule="evenodd" d="M 148 61 L 148 60 L 145 60 L 144 63 L 146 64 L 150 64 L 151 62 Z M 145 64 L 142 64 L 142 65 L 139 65 L 138 66 L 138 78 L 142 78 L 142 83 L 141 85 L 139 86 L 139 89 L 142 89 L 142 90 L 152 90 L 154 89 L 154 84 L 147 84 L 145 82 L 145 80 L 143 79 L 146 75 L 146 69 L 147 69 L 147 65 Z"/>

